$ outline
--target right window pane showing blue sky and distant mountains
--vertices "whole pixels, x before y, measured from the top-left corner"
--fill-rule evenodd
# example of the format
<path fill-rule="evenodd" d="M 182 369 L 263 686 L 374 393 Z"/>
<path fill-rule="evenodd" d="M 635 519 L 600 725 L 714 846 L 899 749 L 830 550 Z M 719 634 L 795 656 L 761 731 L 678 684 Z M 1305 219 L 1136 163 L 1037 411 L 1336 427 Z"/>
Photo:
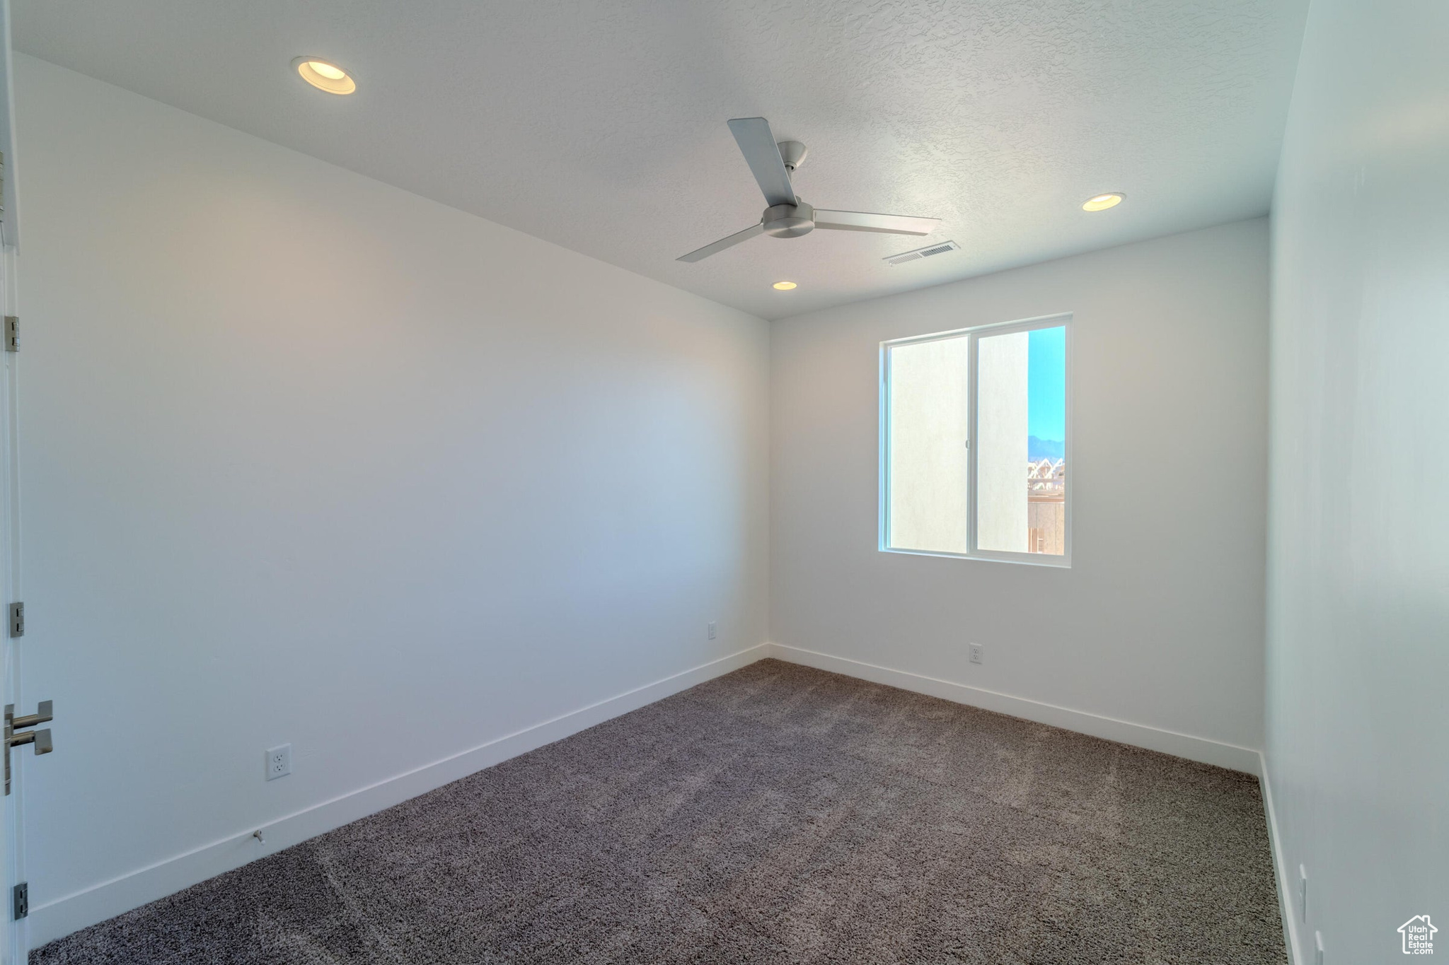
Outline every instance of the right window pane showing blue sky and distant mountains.
<path fill-rule="evenodd" d="M 1066 328 L 977 346 L 977 548 L 1066 551 Z"/>

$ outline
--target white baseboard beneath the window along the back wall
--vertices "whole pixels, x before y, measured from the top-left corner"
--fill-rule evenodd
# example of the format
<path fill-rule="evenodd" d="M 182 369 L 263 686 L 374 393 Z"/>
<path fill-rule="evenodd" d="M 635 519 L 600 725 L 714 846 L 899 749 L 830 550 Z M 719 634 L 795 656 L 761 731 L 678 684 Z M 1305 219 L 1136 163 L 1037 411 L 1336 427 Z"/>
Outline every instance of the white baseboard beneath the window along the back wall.
<path fill-rule="evenodd" d="M 1007 713 L 1013 718 L 1036 720 L 1037 723 L 1049 723 L 1065 731 L 1077 731 L 1078 734 L 1088 734 L 1095 738 L 1117 741 L 1119 744 L 1132 744 L 1135 747 L 1148 748 L 1149 751 L 1161 751 L 1162 754 L 1171 754 L 1174 757 L 1185 757 L 1190 761 L 1216 764 L 1217 767 L 1243 771 L 1245 774 L 1258 774 L 1258 751 L 1246 747 L 1237 747 L 1236 744 L 1223 744 L 1220 741 L 1193 736 L 1190 734 L 1178 734 L 1177 731 L 1164 731 L 1145 723 L 1130 723 L 1127 720 L 1104 718 L 1085 710 L 1058 707 L 1056 705 L 1029 700 L 1027 697 L 1013 697 L 1011 694 L 997 693 L 995 690 L 968 687 L 964 683 L 924 677 L 904 670 L 877 667 L 875 664 L 867 664 L 846 657 L 835 657 L 832 654 L 822 654 L 814 650 L 785 647 L 784 644 L 767 644 L 767 650 L 768 652 L 765 655 L 787 660 L 794 664 L 804 664 L 817 670 L 829 670 L 848 677 L 881 683 L 888 687 L 900 687 L 901 690 L 913 690 L 932 697 L 942 697 L 943 700 L 953 700 L 955 703 L 981 707 L 982 710 L 994 710 L 997 713 Z"/>

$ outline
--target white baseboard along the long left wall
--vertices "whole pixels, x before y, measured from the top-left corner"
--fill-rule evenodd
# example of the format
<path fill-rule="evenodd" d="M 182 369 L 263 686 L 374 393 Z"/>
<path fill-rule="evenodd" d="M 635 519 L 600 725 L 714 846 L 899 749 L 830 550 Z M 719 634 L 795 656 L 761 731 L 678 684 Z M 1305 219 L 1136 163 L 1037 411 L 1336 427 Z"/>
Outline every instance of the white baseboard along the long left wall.
<path fill-rule="evenodd" d="M 29 943 L 39 948 L 46 942 L 70 935 L 88 924 L 104 922 L 130 909 L 141 907 L 168 894 L 174 894 L 199 881 L 206 881 L 249 861 L 290 848 L 309 838 L 341 828 L 349 822 L 367 817 L 393 804 L 425 794 L 436 787 L 456 781 L 485 767 L 493 767 L 519 754 L 526 754 L 545 744 L 552 744 L 578 734 L 596 723 L 603 723 L 622 713 L 662 700 L 669 694 L 687 690 L 720 674 L 739 670 L 767 655 L 768 644 L 720 657 L 691 670 L 656 680 L 627 693 L 622 693 L 587 707 L 580 707 L 542 723 L 480 744 L 478 747 L 425 764 L 404 774 L 397 774 L 368 787 L 313 804 L 300 812 L 262 826 L 265 845 L 252 838 L 252 828 L 236 832 L 220 841 L 201 845 L 174 855 L 154 865 L 138 868 L 110 881 L 83 891 L 38 904 L 30 909 Z"/>

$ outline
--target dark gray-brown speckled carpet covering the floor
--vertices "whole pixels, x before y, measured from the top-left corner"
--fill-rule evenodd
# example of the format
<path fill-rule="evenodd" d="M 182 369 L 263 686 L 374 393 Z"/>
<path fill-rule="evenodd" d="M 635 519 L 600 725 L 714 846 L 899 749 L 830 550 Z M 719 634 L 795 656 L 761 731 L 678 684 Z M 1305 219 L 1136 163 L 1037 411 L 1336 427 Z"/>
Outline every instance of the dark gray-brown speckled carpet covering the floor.
<path fill-rule="evenodd" d="M 1282 965 L 1258 783 L 775 660 L 33 965 Z"/>

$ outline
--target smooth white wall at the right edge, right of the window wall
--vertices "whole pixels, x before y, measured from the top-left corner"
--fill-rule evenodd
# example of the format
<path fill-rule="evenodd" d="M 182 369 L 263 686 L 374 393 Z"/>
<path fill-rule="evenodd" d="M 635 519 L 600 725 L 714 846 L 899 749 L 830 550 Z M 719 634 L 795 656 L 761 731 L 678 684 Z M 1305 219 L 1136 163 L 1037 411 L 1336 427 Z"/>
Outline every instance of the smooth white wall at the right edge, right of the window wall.
<path fill-rule="evenodd" d="M 1449 4 L 1314 0 L 1274 201 L 1268 739 L 1304 964 L 1449 952 Z M 1295 891 L 1308 872 L 1307 922 Z"/>

